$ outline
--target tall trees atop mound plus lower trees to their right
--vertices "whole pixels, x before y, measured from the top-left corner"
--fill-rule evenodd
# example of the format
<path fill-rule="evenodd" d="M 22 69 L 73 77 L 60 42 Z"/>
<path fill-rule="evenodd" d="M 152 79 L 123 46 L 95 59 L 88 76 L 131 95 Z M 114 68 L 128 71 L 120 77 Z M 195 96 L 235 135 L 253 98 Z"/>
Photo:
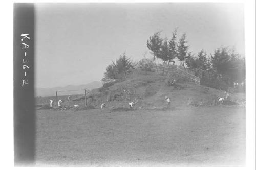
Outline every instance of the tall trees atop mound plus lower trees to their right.
<path fill-rule="evenodd" d="M 161 59 L 166 65 L 171 62 L 177 65 L 178 61 L 183 67 L 194 72 L 195 76 L 200 77 L 202 85 L 209 87 L 227 90 L 233 87 L 234 83 L 245 82 L 245 58 L 234 50 L 220 47 L 213 55 L 208 56 L 205 50 L 201 50 L 196 56 L 188 52 L 186 33 L 182 34 L 178 42 L 176 39 L 177 28 L 169 41 L 167 38 L 162 39 L 160 32 L 150 36 L 147 48 L 151 51 L 154 61 L 155 58 L 157 61 Z"/>

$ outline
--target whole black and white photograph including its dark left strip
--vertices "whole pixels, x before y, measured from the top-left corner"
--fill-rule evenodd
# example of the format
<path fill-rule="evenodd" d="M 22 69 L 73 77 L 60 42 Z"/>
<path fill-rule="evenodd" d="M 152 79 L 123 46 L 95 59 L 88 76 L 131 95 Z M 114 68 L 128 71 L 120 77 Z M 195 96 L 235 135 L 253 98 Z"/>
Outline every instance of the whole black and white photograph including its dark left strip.
<path fill-rule="evenodd" d="M 245 34 L 241 2 L 14 3 L 14 166 L 245 167 Z"/>

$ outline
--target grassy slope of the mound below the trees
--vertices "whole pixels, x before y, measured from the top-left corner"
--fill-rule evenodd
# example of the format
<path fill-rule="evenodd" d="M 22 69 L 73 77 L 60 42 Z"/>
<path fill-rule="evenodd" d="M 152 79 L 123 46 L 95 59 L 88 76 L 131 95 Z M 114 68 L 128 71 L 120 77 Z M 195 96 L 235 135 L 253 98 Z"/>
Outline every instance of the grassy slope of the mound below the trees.
<path fill-rule="evenodd" d="M 108 108 L 113 107 L 116 110 L 129 108 L 129 102 L 135 102 L 135 108 L 164 108 L 166 107 L 165 96 L 168 96 L 171 101 L 170 107 L 182 108 L 216 105 L 218 98 L 225 96 L 224 91 L 196 85 L 185 78 L 178 79 L 172 85 L 168 83 L 169 79 L 172 79 L 172 75 L 134 70 L 125 81 L 111 83 L 108 86 L 92 90 L 87 96 L 87 103 L 94 108 L 100 108 L 102 103 L 106 103 Z M 229 94 L 234 102 L 242 101 L 240 103 L 245 103 L 242 100 L 245 99 L 245 94 Z M 76 95 L 71 96 L 71 98 L 76 99 L 81 98 L 81 96 Z M 66 100 L 63 103 L 65 106 L 74 106 L 75 104 L 83 106 L 84 99 L 79 101 Z M 83 109 L 86 110 L 87 108 Z"/>

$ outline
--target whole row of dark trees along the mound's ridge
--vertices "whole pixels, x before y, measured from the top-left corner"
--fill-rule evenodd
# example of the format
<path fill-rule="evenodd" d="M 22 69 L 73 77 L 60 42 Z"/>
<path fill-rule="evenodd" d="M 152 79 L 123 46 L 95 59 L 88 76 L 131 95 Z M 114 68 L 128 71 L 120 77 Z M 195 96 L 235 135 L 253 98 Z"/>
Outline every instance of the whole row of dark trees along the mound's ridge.
<path fill-rule="evenodd" d="M 209 87 L 226 90 L 232 87 L 234 82 L 245 80 L 245 58 L 227 47 L 220 47 L 214 54 L 207 55 L 205 50 L 201 50 L 197 55 L 188 52 L 186 33 L 177 41 L 177 28 L 174 29 L 170 40 L 161 38 L 160 32 L 154 33 L 147 40 L 146 46 L 153 55 L 153 62 L 144 58 L 139 62 L 133 62 L 124 53 L 120 55 L 116 62 L 112 62 L 106 67 L 103 82 L 113 82 L 123 80 L 136 65 L 142 70 L 150 71 L 153 65 L 159 65 L 159 60 L 165 65 L 170 65 L 178 58 L 182 65 L 193 70 L 196 76 L 201 78 L 201 84 Z M 154 64 L 155 63 L 155 64 Z"/>

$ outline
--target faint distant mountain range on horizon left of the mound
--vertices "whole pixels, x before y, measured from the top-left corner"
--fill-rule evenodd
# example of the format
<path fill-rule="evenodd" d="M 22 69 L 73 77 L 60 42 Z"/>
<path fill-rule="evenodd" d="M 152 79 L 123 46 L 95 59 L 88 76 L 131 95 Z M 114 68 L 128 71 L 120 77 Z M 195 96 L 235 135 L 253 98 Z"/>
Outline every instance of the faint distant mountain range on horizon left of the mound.
<path fill-rule="evenodd" d="M 53 87 L 53 88 L 36 88 L 35 89 L 35 95 L 36 96 L 55 96 L 56 91 L 58 92 L 58 95 L 72 95 L 72 94 L 84 94 L 84 91 L 82 89 L 94 89 L 99 88 L 102 86 L 102 83 L 100 81 L 94 81 L 88 84 L 84 85 L 68 85 L 65 87 Z M 81 91 L 67 91 L 67 90 L 81 90 Z M 63 91 L 63 92 L 62 92 Z"/>

